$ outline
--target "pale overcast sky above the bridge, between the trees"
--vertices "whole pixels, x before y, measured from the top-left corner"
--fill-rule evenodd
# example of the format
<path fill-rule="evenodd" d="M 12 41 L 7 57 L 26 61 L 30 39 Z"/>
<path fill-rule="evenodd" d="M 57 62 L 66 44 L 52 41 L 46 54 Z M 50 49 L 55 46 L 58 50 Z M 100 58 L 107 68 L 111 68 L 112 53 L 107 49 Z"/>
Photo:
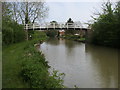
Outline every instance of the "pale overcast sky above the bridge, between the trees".
<path fill-rule="evenodd" d="M 101 12 L 103 0 L 46 0 L 49 7 L 47 22 L 66 22 L 69 18 L 73 21 L 86 23 L 91 20 L 94 12 Z M 105 0 L 104 0 L 105 1 Z M 111 0 L 112 1 L 112 0 Z M 114 0 L 116 1 L 116 0 Z"/>

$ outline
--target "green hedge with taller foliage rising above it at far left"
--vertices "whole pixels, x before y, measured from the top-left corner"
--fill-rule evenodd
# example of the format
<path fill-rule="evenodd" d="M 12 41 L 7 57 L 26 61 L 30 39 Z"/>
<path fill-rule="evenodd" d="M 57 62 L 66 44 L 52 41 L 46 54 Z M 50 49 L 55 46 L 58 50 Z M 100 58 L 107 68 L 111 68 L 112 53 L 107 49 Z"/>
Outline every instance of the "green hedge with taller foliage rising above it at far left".
<path fill-rule="evenodd" d="M 12 20 L 11 4 L 2 3 L 2 41 L 3 45 L 10 45 L 25 40 L 23 25 Z"/>

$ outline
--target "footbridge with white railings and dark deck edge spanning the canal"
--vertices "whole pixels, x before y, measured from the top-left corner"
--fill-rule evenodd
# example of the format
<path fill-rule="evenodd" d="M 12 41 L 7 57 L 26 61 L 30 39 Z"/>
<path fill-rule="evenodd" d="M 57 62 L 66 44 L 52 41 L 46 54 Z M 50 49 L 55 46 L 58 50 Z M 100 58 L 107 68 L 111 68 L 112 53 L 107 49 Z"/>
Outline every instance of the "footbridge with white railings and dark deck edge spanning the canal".
<path fill-rule="evenodd" d="M 44 24 L 26 24 L 26 30 L 85 30 L 90 28 L 83 27 L 80 22 L 75 23 L 44 23 Z"/>

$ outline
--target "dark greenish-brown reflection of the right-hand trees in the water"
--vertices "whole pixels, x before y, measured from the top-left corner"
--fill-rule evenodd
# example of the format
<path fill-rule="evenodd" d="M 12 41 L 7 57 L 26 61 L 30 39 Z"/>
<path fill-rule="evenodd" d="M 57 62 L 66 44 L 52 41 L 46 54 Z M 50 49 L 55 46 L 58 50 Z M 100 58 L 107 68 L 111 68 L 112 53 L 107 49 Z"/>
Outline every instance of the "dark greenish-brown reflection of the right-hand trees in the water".
<path fill-rule="evenodd" d="M 91 56 L 91 63 L 101 74 L 100 77 L 105 87 L 112 87 L 111 82 L 116 84 L 118 80 L 117 51 L 111 48 L 86 45 L 86 55 Z"/>

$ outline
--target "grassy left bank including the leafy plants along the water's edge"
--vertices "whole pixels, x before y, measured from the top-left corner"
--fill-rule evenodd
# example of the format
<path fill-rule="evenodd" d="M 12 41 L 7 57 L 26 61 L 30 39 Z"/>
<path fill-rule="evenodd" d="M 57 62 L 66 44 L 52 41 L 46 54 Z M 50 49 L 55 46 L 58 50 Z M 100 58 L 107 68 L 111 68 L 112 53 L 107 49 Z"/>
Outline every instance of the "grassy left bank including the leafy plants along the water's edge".
<path fill-rule="evenodd" d="M 61 88 L 63 74 L 48 72 L 44 55 L 35 47 L 46 39 L 44 32 L 32 34 L 32 40 L 3 49 L 3 88 Z"/>

